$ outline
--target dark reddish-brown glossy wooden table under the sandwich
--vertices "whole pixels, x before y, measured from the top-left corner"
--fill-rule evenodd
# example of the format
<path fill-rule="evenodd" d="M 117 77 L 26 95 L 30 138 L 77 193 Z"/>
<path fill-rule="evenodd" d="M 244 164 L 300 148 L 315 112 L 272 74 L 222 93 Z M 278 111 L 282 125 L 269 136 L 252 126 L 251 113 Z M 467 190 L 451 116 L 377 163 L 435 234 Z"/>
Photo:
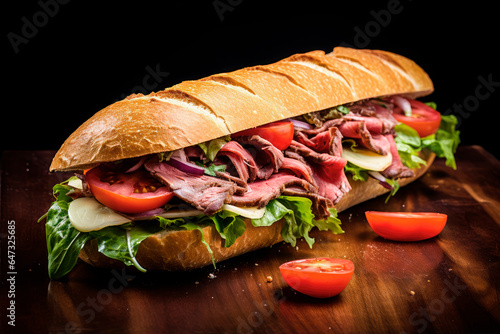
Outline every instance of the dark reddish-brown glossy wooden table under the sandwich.
<path fill-rule="evenodd" d="M 460 147 L 456 171 L 438 159 L 388 204 L 383 196 L 342 212 L 346 233 L 315 231 L 313 250 L 303 241 L 296 248 L 278 244 L 222 262 L 215 271 L 189 273 L 138 274 L 79 263 L 61 281 L 47 276 L 44 226 L 36 223 L 52 201 L 53 184 L 64 179 L 48 173 L 53 155 L 2 157 L 2 333 L 500 331 L 500 162 L 481 147 Z M 436 211 L 446 213 L 448 223 L 431 240 L 391 242 L 370 229 L 366 210 Z M 6 256 L 11 225 L 13 270 Z M 316 256 L 356 265 L 340 295 L 310 298 L 282 279 L 281 263 Z M 6 317 L 12 301 L 15 328 Z"/>

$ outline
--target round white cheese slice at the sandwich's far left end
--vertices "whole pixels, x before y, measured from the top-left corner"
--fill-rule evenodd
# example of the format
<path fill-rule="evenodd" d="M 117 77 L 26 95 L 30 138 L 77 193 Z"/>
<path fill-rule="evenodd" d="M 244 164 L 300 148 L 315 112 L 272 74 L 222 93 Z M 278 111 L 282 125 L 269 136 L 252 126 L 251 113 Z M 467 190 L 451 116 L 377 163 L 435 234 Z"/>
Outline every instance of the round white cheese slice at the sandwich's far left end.
<path fill-rule="evenodd" d="M 97 231 L 131 222 L 93 197 L 80 197 L 69 203 L 69 221 L 78 231 Z"/>

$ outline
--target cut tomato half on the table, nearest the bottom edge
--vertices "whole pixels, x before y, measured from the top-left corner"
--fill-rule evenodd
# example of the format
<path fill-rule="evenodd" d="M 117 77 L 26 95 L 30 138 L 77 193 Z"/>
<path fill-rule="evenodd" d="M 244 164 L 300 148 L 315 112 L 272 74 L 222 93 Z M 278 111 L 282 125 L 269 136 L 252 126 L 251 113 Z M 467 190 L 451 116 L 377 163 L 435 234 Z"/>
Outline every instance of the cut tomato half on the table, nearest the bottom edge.
<path fill-rule="evenodd" d="M 295 260 L 280 266 L 281 275 L 293 289 L 316 298 L 329 298 L 345 289 L 354 272 L 346 259 L 313 258 Z"/>

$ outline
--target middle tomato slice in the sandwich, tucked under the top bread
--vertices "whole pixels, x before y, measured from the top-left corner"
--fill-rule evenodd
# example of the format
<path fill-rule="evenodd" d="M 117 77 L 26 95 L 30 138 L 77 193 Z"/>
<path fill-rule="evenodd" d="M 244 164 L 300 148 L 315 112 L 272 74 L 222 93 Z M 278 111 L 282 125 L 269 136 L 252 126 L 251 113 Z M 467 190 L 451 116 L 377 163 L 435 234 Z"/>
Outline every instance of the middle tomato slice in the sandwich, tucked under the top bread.
<path fill-rule="evenodd" d="M 293 139 L 293 123 L 291 121 L 278 121 L 258 126 L 253 129 L 236 132 L 231 137 L 258 135 L 271 142 L 281 151 L 285 150 Z"/>

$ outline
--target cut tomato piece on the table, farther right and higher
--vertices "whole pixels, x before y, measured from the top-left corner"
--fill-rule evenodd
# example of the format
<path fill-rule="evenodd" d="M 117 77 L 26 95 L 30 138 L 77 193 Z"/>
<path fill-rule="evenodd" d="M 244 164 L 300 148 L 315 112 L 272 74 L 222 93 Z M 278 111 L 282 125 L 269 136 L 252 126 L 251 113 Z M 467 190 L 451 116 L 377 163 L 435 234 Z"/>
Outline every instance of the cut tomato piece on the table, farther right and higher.
<path fill-rule="evenodd" d="M 368 224 L 382 238 L 420 241 L 435 237 L 446 225 L 447 215 L 434 212 L 366 211 Z"/>

